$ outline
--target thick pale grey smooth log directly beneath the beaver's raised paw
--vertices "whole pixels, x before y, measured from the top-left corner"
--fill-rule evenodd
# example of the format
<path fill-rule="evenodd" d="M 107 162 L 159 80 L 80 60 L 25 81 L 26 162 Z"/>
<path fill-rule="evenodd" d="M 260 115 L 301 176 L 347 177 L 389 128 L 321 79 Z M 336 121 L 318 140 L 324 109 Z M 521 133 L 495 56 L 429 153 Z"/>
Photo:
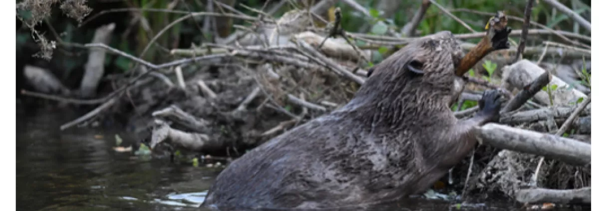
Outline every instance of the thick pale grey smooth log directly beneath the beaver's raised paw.
<path fill-rule="evenodd" d="M 477 127 L 474 133 L 484 144 L 500 149 L 546 156 L 571 165 L 591 164 L 591 144 L 571 138 L 496 123 Z"/>

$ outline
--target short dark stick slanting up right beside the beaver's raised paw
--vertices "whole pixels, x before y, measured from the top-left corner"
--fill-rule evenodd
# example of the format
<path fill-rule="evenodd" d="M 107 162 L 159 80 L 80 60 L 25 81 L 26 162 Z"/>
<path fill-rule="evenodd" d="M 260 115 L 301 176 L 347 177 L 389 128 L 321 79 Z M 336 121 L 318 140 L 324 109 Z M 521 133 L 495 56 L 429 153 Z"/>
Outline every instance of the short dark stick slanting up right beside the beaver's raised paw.
<path fill-rule="evenodd" d="M 543 86 L 546 86 L 551 81 L 551 74 L 549 71 L 545 71 L 541 76 L 535 79 L 530 85 L 525 86 L 516 97 L 512 98 L 512 100 L 508 101 L 506 106 L 501 108 L 500 113 L 506 113 L 509 111 L 513 111 L 524 105 L 528 99 L 532 98 L 537 92 L 543 89 Z"/>

